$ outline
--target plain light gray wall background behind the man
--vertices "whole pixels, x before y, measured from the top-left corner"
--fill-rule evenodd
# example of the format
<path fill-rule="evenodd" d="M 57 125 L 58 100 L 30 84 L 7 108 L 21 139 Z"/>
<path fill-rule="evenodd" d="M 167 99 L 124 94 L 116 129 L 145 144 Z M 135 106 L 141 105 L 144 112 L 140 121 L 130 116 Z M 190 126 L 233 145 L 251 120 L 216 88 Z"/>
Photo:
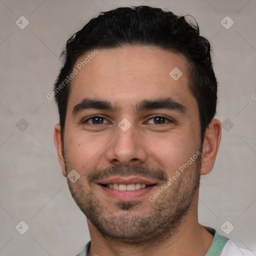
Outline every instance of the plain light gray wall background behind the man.
<path fill-rule="evenodd" d="M 57 111 L 46 94 L 69 36 L 100 11 L 140 4 L 193 15 L 212 43 L 216 117 L 224 122 L 214 168 L 201 179 L 198 217 L 256 255 L 255 0 L 0 0 L 0 255 L 75 255 L 89 240 L 57 161 Z M 15 24 L 22 15 L 24 29 Z M 21 220 L 24 234 L 24 224 L 15 228 Z"/>

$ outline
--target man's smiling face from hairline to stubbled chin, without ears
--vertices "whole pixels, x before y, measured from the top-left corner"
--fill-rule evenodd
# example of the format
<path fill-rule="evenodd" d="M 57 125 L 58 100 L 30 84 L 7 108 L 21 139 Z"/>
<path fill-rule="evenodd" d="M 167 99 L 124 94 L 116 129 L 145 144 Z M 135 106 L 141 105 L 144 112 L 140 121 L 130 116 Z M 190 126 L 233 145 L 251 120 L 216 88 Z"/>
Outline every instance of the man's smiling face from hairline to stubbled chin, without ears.
<path fill-rule="evenodd" d="M 174 67 L 182 72 L 177 80 L 169 75 Z M 103 236 L 153 239 L 174 230 L 196 204 L 200 157 L 188 160 L 201 148 L 200 123 L 189 81 L 184 56 L 149 46 L 99 49 L 74 76 L 62 172 L 79 173 L 69 189 Z"/>

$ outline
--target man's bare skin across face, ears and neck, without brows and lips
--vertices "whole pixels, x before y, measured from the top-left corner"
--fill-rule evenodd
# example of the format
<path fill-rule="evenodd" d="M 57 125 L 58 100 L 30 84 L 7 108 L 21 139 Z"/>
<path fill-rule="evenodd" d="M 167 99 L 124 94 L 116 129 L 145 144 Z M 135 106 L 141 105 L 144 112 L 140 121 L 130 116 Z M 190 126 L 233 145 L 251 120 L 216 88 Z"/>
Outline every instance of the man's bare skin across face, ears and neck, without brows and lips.
<path fill-rule="evenodd" d="M 80 56 L 76 63 L 87 54 Z M 169 75 L 174 67 L 183 73 L 176 81 Z M 54 129 L 54 143 L 62 174 L 66 176 L 72 169 L 80 174 L 75 183 L 68 180 L 68 185 L 87 215 L 90 256 L 148 255 L 149 252 L 150 255 L 206 254 L 213 235 L 197 220 L 197 184 L 199 175 L 207 174 L 213 167 L 221 124 L 213 119 L 201 144 L 198 107 L 188 81 L 188 62 L 183 55 L 149 46 L 99 49 L 72 79 L 64 145 L 59 124 Z M 108 100 L 116 108 L 85 109 L 72 114 L 74 106 L 85 97 Z M 137 102 L 166 97 L 182 104 L 186 113 L 175 109 L 135 110 Z M 94 125 L 92 120 L 90 124 L 83 122 L 92 115 L 104 117 L 101 119 L 104 122 Z M 156 124 L 154 115 L 171 121 L 161 119 L 164 123 Z M 123 118 L 131 124 L 126 131 L 117 125 Z M 201 148 L 201 157 L 154 202 L 150 202 L 148 197 Z M 142 167 L 135 173 L 132 166 Z M 111 168 L 113 172 L 107 172 Z M 121 170 L 123 175 L 150 176 L 156 184 L 138 199 L 117 200 L 107 195 L 95 180 L 88 178 L 95 173 L 116 174 Z M 163 174 L 161 180 L 156 176 L 152 178 L 157 170 Z M 185 212 L 175 216 L 179 207 Z M 101 221 L 106 233 L 97 228 L 96 221 Z M 159 227 L 159 223 L 164 225 Z M 144 228 L 141 231 L 144 235 L 140 235 L 139 227 Z"/>

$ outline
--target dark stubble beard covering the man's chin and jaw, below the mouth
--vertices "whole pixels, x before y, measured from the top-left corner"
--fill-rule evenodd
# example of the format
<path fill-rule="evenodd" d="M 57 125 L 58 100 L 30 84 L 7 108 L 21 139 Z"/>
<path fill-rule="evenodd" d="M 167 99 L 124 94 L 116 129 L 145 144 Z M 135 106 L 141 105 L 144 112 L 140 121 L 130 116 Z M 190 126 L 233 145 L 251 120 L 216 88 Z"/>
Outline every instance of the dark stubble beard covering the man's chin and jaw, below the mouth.
<path fill-rule="evenodd" d="M 155 243 L 174 234 L 187 215 L 198 195 L 200 166 L 199 157 L 154 202 L 148 200 L 146 211 L 136 200 L 113 202 L 118 212 L 110 212 L 82 178 L 67 183 L 76 204 L 103 237 L 129 244 Z"/>

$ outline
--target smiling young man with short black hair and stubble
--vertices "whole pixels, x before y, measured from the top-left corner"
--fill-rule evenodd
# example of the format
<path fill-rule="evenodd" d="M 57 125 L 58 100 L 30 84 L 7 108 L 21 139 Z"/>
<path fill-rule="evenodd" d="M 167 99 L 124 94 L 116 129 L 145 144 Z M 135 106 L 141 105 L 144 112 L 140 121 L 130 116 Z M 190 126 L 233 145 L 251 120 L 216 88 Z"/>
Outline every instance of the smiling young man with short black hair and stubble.
<path fill-rule="evenodd" d="M 149 6 L 92 18 L 66 43 L 54 142 L 91 241 L 78 255 L 243 255 L 197 220 L 221 124 L 210 44 Z"/>

